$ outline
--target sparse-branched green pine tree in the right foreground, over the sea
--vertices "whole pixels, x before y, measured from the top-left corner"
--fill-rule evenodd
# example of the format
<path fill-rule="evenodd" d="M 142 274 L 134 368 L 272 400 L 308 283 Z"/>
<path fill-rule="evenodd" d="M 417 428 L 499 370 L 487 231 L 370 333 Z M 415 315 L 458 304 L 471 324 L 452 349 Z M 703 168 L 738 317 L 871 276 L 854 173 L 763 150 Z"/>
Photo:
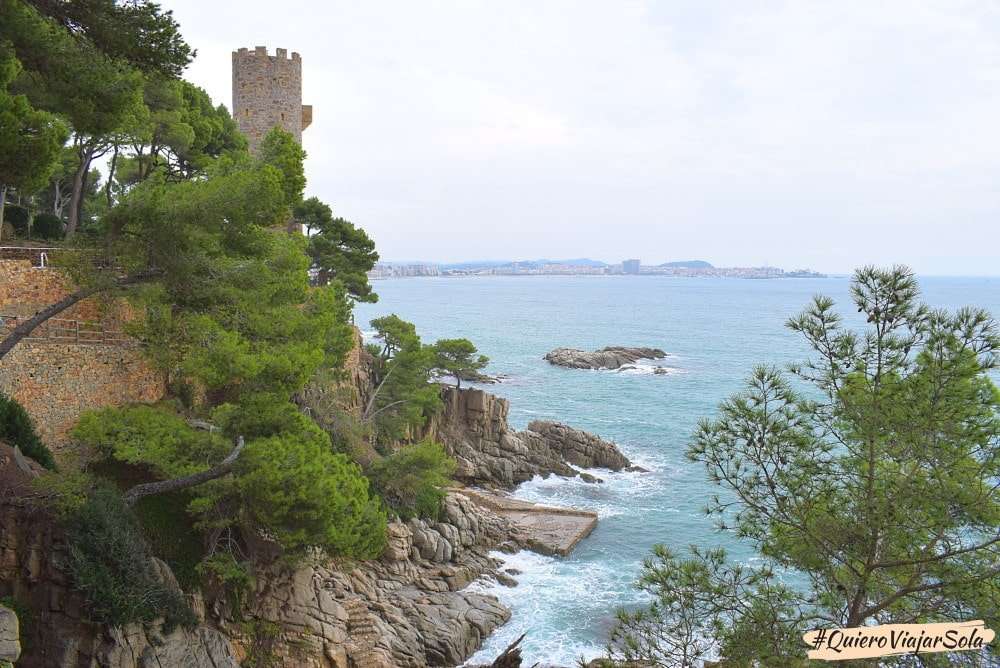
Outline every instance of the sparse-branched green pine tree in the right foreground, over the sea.
<path fill-rule="evenodd" d="M 691 616 L 737 665 L 801 658 L 789 639 L 810 627 L 1000 621 L 997 325 L 979 309 L 921 305 L 905 268 L 861 269 L 851 293 L 864 331 L 822 296 L 788 323 L 816 353 L 790 368 L 802 393 L 757 368 L 688 450 L 722 488 L 709 513 L 759 565 L 658 553 L 641 585 L 658 607 L 621 619 L 616 651 L 639 634 L 655 647 L 632 656 L 677 657 L 658 632 Z M 776 583 L 779 571 L 800 584 Z"/>

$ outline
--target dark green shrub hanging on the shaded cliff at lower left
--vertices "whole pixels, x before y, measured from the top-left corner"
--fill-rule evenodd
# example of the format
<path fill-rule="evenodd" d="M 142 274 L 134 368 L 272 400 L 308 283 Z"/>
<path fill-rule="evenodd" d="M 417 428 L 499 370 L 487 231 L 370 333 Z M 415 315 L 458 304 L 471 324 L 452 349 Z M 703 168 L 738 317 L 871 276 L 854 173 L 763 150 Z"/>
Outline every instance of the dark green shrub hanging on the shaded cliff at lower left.
<path fill-rule="evenodd" d="M 135 518 L 117 492 L 99 488 L 65 524 L 67 572 L 87 599 L 94 621 L 113 626 L 194 625 L 197 619 L 182 596 L 157 574 Z"/>

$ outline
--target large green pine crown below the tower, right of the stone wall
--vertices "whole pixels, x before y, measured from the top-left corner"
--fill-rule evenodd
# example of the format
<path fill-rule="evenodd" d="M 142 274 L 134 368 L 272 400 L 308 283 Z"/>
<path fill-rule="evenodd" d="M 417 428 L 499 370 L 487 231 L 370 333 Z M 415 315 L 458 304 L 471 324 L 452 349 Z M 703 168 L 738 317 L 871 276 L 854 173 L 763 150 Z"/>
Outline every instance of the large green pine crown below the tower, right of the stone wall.
<path fill-rule="evenodd" d="M 283 211 L 273 168 L 227 163 L 204 181 L 150 179 L 109 215 L 134 234 L 123 252 L 137 269 L 164 272 L 137 297 L 147 320 L 134 333 L 172 379 L 290 395 L 342 363 L 350 304 L 339 286 L 310 288 L 304 239 L 267 229 Z"/>

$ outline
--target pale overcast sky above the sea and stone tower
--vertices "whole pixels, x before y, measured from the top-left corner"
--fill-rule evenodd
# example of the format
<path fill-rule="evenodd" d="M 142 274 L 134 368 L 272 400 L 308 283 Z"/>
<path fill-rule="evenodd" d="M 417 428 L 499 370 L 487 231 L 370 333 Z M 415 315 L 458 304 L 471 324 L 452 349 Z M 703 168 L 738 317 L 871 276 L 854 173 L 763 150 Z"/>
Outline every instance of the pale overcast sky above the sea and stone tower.
<path fill-rule="evenodd" d="M 163 2 L 298 51 L 307 194 L 383 259 L 1000 274 L 1000 4 Z"/>

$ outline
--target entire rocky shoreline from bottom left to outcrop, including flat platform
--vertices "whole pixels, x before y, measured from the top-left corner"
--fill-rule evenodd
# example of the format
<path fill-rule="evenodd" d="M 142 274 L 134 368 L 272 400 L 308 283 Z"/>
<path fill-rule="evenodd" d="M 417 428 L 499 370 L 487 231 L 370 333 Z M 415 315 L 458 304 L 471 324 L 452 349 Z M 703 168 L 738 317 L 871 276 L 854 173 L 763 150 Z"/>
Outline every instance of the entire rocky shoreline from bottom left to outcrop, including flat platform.
<path fill-rule="evenodd" d="M 86 621 L 83 601 L 60 569 L 66 547 L 54 520 L 22 497 L 0 499 L 0 595 L 44 611 L 22 628 L 29 650 L 18 665 L 229 668 L 259 651 L 261 629 L 270 634 L 274 665 L 288 668 L 460 665 L 510 618 L 495 596 L 466 589 L 483 578 L 516 586 L 489 553 L 565 555 L 597 523 L 595 513 L 536 506 L 505 490 L 536 475 L 599 484 L 580 468 L 641 469 L 613 443 L 557 422 L 512 429 L 508 402 L 482 390 L 443 388 L 442 398 L 444 409 L 426 435 L 456 459 L 463 486 L 448 494 L 439 521 L 391 522 L 377 560 L 316 555 L 294 569 L 273 564 L 255 578 L 253 603 L 244 610 L 190 595 L 200 621 L 194 629 Z M 29 475 L 10 457 L 0 468 Z M 176 586 L 166 564 L 156 568 Z"/>

